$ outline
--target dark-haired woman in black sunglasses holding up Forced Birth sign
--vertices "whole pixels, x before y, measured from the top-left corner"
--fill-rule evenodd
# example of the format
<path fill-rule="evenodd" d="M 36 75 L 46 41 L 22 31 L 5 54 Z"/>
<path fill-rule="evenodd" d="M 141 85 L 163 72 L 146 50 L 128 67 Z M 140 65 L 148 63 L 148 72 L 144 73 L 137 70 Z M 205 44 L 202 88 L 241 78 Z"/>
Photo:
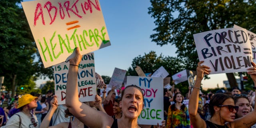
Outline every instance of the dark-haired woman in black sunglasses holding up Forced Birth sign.
<path fill-rule="evenodd" d="M 233 96 L 217 93 L 210 99 L 208 104 L 210 110 L 210 119 L 203 120 L 200 118 L 197 108 L 198 108 L 198 95 L 201 86 L 202 79 L 204 75 L 210 74 L 210 67 L 205 65 L 200 65 L 204 61 L 198 62 L 196 68 L 197 76 L 194 89 L 191 93 L 190 100 L 188 103 L 188 112 L 192 126 L 194 128 L 250 128 L 256 123 L 256 109 L 242 118 L 236 118 L 236 113 L 239 111 L 238 106 L 235 105 Z M 256 86 L 256 64 L 251 62 L 251 68 L 248 68 L 247 74 L 250 75 L 254 81 L 254 86 Z"/>

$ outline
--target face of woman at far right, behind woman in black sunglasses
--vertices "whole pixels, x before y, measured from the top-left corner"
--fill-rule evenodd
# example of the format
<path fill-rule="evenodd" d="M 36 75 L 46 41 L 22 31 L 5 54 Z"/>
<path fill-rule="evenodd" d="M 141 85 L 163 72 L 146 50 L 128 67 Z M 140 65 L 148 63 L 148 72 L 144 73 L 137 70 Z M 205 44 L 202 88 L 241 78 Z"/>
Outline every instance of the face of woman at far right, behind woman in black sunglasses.
<path fill-rule="evenodd" d="M 236 106 L 239 106 L 236 116 L 238 118 L 245 116 L 251 111 L 250 103 L 246 98 L 239 98 L 236 102 Z"/>

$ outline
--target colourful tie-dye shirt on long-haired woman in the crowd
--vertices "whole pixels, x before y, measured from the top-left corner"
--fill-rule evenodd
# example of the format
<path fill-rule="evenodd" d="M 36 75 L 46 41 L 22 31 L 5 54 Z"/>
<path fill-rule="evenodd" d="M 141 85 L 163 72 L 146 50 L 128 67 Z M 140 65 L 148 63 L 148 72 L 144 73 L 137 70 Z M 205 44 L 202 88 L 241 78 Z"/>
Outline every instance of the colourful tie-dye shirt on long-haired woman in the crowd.
<path fill-rule="evenodd" d="M 166 120 L 166 128 L 190 128 L 188 108 L 185 107 L 184 111 L 175 108 L 175 110 L 172 111 L 172 105 L 169 106 L 168 116 Z"/>

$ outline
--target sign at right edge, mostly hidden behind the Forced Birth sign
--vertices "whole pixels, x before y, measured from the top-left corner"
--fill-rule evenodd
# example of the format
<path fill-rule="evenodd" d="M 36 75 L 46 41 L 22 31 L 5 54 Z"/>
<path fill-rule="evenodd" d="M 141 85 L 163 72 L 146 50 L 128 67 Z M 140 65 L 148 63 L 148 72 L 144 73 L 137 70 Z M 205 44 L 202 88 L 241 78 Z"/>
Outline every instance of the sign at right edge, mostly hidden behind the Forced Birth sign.
<path fill-rule="evenodd" d="M 240 26 L 234 25 L 234 28 L 241 28 Z M 248 38 L 252 46 L 252 60 L 256 63 L 256 34 L 247 30 Z"/>

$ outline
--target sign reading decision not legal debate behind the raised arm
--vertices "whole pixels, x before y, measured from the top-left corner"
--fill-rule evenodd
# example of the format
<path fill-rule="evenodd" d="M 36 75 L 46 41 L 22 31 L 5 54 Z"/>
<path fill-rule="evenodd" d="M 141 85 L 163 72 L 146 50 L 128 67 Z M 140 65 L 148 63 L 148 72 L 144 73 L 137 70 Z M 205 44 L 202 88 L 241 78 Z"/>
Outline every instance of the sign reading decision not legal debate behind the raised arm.
<path fill-rule="evenodd" d="M 58 104 L 65 104 L 66 101 L 68 68 L 68 61 L 54 66 L 54 86 Z M 78 97 L 81 102 L 95 100 L 97 94 L 95 75 L 94 53 L 83 55 L 78 65 Z"/>

